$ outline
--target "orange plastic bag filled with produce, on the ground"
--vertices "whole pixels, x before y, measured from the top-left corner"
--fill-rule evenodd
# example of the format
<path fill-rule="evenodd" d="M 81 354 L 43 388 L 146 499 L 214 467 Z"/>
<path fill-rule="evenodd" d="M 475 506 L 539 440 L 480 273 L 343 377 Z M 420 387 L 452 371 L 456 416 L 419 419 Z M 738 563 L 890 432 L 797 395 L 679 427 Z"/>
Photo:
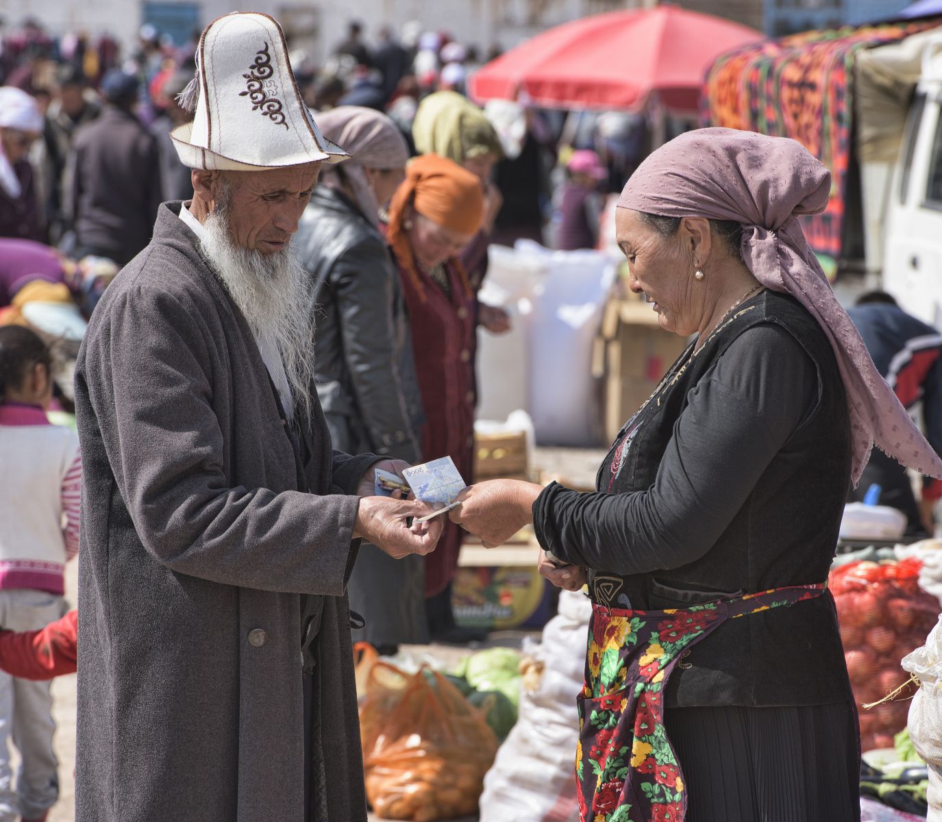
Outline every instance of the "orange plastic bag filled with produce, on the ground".
<path fill-rule="evenodd" d="M 369 671 L 360 705 L 366 798 L 382 819 L 433 822 L 474 814 L 497 737 L 437 671 Z"/>

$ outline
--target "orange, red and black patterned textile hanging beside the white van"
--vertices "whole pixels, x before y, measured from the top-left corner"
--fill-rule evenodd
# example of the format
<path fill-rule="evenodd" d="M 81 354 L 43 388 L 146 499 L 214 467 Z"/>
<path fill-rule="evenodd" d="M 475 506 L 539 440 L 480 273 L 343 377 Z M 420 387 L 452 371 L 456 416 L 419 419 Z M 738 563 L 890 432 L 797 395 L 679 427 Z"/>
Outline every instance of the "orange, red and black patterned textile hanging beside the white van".
<path fill-rule="evenodd" d="M 766 40 L 727 52 L 707 73 L 705 125 L 792 137 L 832 174 L 823 214 L 801 218 L 808 244 L 829 277 L 841 258 L 853 135 L 853 62 L 858 51 L 903 40 L 942 24 L 847 26 Z"/>

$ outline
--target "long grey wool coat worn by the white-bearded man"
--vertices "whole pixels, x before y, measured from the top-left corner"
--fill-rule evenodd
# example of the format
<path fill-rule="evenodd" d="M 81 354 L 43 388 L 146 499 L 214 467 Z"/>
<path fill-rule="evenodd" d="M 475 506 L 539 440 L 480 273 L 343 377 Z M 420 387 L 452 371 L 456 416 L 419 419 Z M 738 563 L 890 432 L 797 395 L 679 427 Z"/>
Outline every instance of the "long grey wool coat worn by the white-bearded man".
<path fill-rule="evenodd" d="M 301 822 L 307 607 L 320 614 L 313 782 L 326 786 L 313 818 L 359 822 L 349 494 L 377 458 L 332 452 L 316 406 L 298 491 L 252 333 L 179 208 L 160 206 L 153 241 L 108 288 L 75 374 L 75 818 Z"/>

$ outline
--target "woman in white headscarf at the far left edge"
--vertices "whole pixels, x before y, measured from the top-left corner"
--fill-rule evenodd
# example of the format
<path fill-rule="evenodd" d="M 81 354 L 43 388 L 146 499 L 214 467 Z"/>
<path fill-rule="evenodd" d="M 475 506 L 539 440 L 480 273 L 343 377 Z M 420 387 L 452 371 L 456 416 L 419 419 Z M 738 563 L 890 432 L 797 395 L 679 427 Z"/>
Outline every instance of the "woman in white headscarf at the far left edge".
<path fill-rule="evenodd" d="M 25 91 L 0 88 L 0 237 L 46 241 L 29 149 L 42 133 L 42 112 Z"/>

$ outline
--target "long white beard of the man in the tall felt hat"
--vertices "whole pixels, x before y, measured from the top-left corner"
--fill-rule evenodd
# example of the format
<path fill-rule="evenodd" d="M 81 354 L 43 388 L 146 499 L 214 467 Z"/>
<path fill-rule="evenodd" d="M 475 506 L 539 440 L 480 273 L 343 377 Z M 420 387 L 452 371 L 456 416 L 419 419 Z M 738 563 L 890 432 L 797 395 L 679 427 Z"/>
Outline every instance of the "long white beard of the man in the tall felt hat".
<path fill-rule="evenodd" d="M 290 245 L 270 254 L 235 245 L 224 208 L 206 218 L 203 229 L 203 254 L 256 339 L 278 348 L 295 411 L 309 419 L 316 323 L 310 275 Z"/>

